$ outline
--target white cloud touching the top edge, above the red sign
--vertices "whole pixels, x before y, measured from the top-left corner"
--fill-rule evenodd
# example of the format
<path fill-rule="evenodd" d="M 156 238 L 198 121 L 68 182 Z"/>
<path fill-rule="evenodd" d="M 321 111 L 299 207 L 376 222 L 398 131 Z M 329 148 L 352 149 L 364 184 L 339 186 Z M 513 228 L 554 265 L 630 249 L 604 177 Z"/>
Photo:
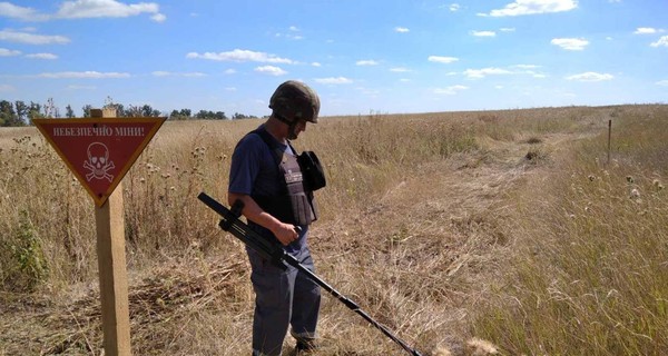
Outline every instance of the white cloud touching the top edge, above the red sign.
<path fill-rule="evenodd" d="M 87 18 L 127 18 L 141 13 L 153 13 L 154 21 L 165 21 L 156 2 L 139 2 L 126 4 L 116 0 L 75 0 L 65 1 L 55 17 L 60 19 Z"/>

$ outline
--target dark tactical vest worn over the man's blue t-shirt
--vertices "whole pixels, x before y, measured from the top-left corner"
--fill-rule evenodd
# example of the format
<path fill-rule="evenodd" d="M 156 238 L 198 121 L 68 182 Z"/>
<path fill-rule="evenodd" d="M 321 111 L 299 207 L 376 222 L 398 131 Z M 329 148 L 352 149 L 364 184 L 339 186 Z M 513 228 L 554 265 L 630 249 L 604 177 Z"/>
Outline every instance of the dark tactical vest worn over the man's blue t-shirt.
<path fill-rule="evenodd" d="M 263 128 L 250 131 L 262 138 L 272 151 L 278 165 L 278 176 L 284 189 L 278 196 L 252 195 L 257 205 L 278 220 L 293 225 L 310 225 L 317 219 L 317 209 L 313 200 L 313 191 L 304 185 L 304 175 L 299 168 L 297 156 L 286 154 L 275 144 L 275 139 Z M 296 150 L 289 145 L 294 154 Z"/>

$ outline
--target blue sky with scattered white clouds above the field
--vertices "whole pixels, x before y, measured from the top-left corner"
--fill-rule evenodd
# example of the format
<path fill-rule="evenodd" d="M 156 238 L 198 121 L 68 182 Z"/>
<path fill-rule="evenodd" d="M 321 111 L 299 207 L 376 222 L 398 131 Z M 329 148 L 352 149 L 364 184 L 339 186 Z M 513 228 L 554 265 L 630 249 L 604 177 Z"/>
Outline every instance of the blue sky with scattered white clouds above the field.
<path fill-rule="evenodd" d="M 0 1 L 0 99 L 321 116 L 668 102 L 667 0 Z"/>

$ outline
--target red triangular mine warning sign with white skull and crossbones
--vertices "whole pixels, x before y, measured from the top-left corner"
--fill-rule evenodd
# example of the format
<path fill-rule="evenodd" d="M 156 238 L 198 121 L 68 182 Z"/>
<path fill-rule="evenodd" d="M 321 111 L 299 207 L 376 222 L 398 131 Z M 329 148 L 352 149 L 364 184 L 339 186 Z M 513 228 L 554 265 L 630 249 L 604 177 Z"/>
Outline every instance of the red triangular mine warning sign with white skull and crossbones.
<path fill-rule="evenodd" d="M 101 207 L 165 120 L 92 118 L 32 122 Z"/>

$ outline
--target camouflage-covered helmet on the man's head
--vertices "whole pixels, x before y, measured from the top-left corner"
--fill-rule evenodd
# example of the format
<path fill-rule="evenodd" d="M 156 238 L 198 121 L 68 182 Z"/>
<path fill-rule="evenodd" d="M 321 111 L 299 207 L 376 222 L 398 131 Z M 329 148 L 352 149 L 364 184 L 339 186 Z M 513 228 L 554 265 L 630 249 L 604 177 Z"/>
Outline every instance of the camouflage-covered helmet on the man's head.
<path fill-rule="evenodd" d="M 269 108 L 274 113 L 288 120 L 306 120 L 317 122 L 320 98 L 317 93 L 301 81 L 288 80 L 274 91 L 269 99 Z"/>

